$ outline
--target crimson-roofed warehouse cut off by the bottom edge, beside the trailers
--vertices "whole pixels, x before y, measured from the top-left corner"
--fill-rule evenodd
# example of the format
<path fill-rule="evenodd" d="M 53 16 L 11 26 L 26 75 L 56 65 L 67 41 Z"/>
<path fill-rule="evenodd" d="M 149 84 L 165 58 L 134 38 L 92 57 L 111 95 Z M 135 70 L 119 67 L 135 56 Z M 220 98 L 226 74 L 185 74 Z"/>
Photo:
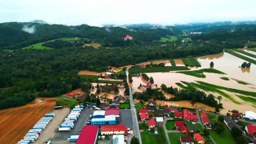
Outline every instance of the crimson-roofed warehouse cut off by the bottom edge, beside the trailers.
<path fill-rule="evenodd" d="M 95 144 L 98 136 L 98 126 L 96 125 L 86 125 L 83 127 L 77 144 Z"/>

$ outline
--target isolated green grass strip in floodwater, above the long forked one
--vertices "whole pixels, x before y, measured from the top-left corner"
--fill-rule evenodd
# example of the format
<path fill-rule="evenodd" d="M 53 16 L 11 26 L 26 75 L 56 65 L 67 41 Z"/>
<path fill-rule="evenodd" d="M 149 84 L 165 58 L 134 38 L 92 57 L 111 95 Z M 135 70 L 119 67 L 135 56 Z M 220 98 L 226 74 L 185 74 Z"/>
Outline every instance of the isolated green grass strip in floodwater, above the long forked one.
<path fill-rule="evenodd" d="M 195 77 L 205 78 L 206 76 L 203 73 L 215 73 L 215 74 L 225 74 L 222 71 L 217 69 L 200 69 L 200 70 L 193 70 L 193 71 L 177 71 L 176 73 L 182 73 L 185 75 L 191 75 Z"/>

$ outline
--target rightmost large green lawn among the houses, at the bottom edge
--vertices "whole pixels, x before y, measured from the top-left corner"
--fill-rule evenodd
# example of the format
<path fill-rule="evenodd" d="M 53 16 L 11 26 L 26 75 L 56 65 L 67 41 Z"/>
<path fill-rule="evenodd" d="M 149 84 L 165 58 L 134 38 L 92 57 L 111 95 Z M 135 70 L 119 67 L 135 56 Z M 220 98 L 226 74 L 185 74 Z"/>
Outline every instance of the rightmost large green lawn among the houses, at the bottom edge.
<path fill-rule="evenodd" d="M 230 144 L 236 143 L 234 137 L 231 135 L 231 132 L 228 128 L 225 128 L 223 134 L 218 134 L 216 131 L 210 130 L 210 135 L 217 144 L 226 144 L 227 142 Z"/>

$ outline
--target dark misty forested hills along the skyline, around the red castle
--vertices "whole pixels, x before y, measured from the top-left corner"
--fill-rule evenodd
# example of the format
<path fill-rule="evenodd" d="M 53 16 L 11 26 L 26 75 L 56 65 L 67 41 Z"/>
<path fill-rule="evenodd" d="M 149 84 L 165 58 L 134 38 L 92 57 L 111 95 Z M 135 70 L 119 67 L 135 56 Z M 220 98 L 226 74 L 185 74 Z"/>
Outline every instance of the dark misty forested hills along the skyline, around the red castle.
<path fill-rule="evenodd" d="M 175 27 L 168 28 L 121 28 L 94 27 L 88 25 L 65 26 L 49 25 L 37 22 L 7 22 L 0 23 L 0 49 L 19 49 L 31 44 L 63 37 L 82 37 L 101 43 L 104 46 L 124 46 L 125 35 L 131 35 L 135 40 L 131 44 L 147 44 L 159 40 L 166 35 L 181 34 Z"/>

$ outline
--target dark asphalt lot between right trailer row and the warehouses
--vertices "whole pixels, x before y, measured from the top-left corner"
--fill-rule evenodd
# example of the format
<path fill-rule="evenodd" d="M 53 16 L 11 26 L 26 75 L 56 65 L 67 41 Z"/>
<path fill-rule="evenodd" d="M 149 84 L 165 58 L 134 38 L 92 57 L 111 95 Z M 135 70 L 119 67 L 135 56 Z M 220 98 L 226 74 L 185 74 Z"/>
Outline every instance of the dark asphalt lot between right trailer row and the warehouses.
<path fill-rule="evenodd" d="M 79 129 L 82 129 L 86 122 L 89 120 L 90 115 L 93 113 L 92 109 L 87 107 L 81 112 L 78 121 L 74 123 L 74 128 L 71 131 L 57 131 L 53 137 L 53 141 L 67 141 L 69 135 L 79 135 Z"/>

